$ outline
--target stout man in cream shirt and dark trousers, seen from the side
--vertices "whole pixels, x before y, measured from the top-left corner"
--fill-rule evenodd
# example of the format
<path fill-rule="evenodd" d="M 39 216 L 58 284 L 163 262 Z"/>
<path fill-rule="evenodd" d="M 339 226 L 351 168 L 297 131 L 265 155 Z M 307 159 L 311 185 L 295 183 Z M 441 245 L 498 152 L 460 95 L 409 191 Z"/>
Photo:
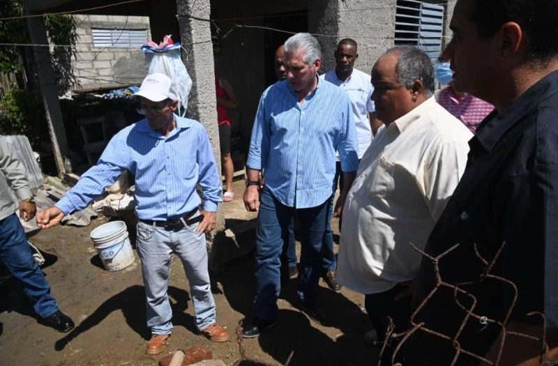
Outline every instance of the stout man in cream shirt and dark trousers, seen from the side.
<path fill-rule="evenodd" d="M 338 280 L 365 294 L 382 339 L 393 319 L 407 328 L 407 282 L 421 266 L 430 231 L 465 169 L 472 133 L 437 104 L 434 70 L 422 50 L 394 47 L 372 68 L 382 129 L 364 154 L 345 207 Z"/>

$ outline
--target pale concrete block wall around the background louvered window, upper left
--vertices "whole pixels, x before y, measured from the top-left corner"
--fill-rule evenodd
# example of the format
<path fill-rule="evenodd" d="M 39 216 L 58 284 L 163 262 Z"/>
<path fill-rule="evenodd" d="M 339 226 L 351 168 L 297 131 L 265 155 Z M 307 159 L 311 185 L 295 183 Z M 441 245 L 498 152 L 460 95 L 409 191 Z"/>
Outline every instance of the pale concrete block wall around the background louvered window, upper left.
<path fill-rule="evenodd" d="M 138 47 L 93 47 L 92 28 L 146 29 L 151 38 L 148 17 L 115 15 L 76 15 L 78 19 L 77 53 L 73 67 L 79 87 L 99 89 L 140 84 L 147 68 L 145 56 Z"/>

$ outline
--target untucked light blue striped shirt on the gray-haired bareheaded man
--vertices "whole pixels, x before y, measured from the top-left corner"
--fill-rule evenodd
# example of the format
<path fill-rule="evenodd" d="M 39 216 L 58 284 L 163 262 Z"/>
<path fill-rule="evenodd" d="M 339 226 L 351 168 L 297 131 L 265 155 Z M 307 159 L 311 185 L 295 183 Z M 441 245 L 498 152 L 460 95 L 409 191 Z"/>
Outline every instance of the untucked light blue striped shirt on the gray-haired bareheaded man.
<path fill-rule="evenodd" d="M 299 104 L 288 81 L 259 100 L 247 165 L 265 171 L 265 185 L 282 204 L 308 208 L 333 193 L 335 151 L 342 171 L 356 171 L 356 130 L 345 91 L 328 82 Z"/>

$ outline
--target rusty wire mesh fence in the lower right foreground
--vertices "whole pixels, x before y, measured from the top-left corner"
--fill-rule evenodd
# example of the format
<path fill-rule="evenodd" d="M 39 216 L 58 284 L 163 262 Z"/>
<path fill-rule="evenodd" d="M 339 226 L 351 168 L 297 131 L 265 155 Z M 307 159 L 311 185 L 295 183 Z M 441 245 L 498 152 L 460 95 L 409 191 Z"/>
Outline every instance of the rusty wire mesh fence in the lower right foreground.
<path fill-rule="evenodd" d="M 497 259 L 499 258 L 500 254 L 502 254 L 502 250 L 504 250 L 504 247 L 506 246 L 506 243 L 502 243 L 502 246 L 499 247 L 499 250 L 495 254 L 494 259 L 492 259 L 492 261 L 490 261 L 490 263 L 488 261 L 486 261 L 481 256 L 481 254 L 478 252 L 478 249 L 477 249 L 476 245 L 474 245 L 474 254 L 476 255 L 478 260 L 480 260 L 481 263 L 484 266 L 483 273 L 481 274 L 481 276 L 476 281 L 463 282 L 463 283 L 460 283 L 460 284 L 450 284 L 448 282 L 444 282 L 444 279 L 442 279 L 442 276 L 440 275 L 440 270 L 439 270 L 439 262 L 442 259 L 444 259 L 444 257 L 446 257 L 446 255 L 448 255 L 449 253 L 456 250 L 460 246 L 460 244 L 454 245 L 453 247 L 446 250 L 446 252 L 443 252 L 442 254 L 439 254 L 439 256 L 437 256 L 437 257 L 431 257 L 430 255 L 425 253 L 423 250 L 418 249 L 418 247 L 416 247 L 415 245 L 413 245 L 413 244 L 411 244 L 411 245 L 412 245 L 412 247 L 414 247 L 414 250 L 421 253 L 423 255 L 423 257 L 432 261 L 432 264 L 434 266 L 435 280 L 436 280 L 435 287 L 434 287 L 434 289 L 432 289 L 432 291 L 430 291 L 430 293 L 428 293 L 428 296 L 426 296 L 424 298 L 424 300 L 420 304 L 418 304 L 418 307 L 416 307 L 416 310 L 414 310 L 414 312 L 411 314 L 411 317 L 410 317 L 410 320 L 409 320 L 410 326 L 409 326 L 408 330 L 405 330 L 405 332 L 402 332 L 402 333 L 396 333 L 395 332 L 395 327 L 393 326 L 393 321 L 391 321 L 391 319 L 390 319 L 391 324 L 390 324 L 390 326 L 388 328 L 388 331 L 386 333 L 384 343 L 382 344 L 382 349 L 381 349 L 380 354 L 379 354 L 378 366 L 380 366 L 382 364 L 382 356 L 384 356 L 384 353 L 388 349 L 388 343 L 389 342 L 398 342 L 395 346 L 395 349 L 393 349 L 393 353 L 392 353 L 392 356 L 391 356 L 391 364 L 392 365 L 405 366 L 405 365 L 402 365 L 401 363 L 396 363 L 395 359 L 397 358 L 398 353 L 400 353 L 400 351 L 402 350 L 402 346 L 404 346 L 405 342 L 407 342 L 409 340 L 409 338 L 412 337 L 414 335 L 414 333 L 416 333 L 416 332 L 428 333 L 429 335 L 432 335 L 434 337 L 439 337 L 440 339 L 445 340 L 446 342 L 449 342 L 449 344 L 452 344 L 453 349 L 455 349 L 455 354 L 454 354 L 453 360 L 450 364 L 451 366 L 455 365 L 455 363 L 457 363 L 458 360 L 460 360 L 460 357 L 462 357 L 462 356 L 467 356 L 469 358 L 474 358 L 474 359 L 478 360 L 478 362 L 481 363 L 482 365 L 498 366 L 499 362 L 502 358 L 502 351 L 504 349 L 504 342 L 506 342 L 506 337 L 508 335 L 514 335 L 514 336 L 518 336 L 518 337 L 525 337 L 526 339 L 534 340 L 536 342 L 540 342 L 541 353 L 540 353 L 539 360 L 541 360 L 541 365 L 544 365 L 543 358 L 546 355 L 546 353 L 548 353 L 548 344 L 546 342 L 546 332 L 545 332 L 546 319 L 545 319 L 544 314 L 542 314 L 540 312 L 531 312 L 531 313 L 527 314 L 527 316 L 529 316 L 529 317 L 534 317 L 534 316 L 541 317 L 541 320 L 542 320 L 541 337 L 534 337 L 532 335 L 527 335 L 527 334 L 518 333 L 518 332 L 512 332 L 512 331 L 510 331 L 506 328 L 506 324 L 508 323 L 508 320 L 511 317 L 511 313 L 512 313 L 512 311 L 515 307 L 515 304 L 517 303 L 517 300 L 518 300 L 518 288 L 515 286 L 515 284 L 512 281 L 507 280 L 504 277 L 493 275 L 491 273 L 492 269 L 495 267 Z M 502 320 L 490 319 L 490 318 L 485 317 L 483 315 L 476 314 L 475 307 L 478 303 L 478 299 L 472 293 L 470 293 L 468 291 L 465 291 L 465 289 L 464 289 L 464 287 L 471 287 L 474 284 L 481 284 L 481 282 L 485 282 L 486 280 L 493 280 L 493 281 L 496 281 L 496 282 L 500 282 L 501 284 L 505 284 L 506 286 L 509 286 L 509 287 L 511 287 L 511 289 L 513 289 L 513 298 L 512 298 L 512 301 L 511 301 L 511 305 L 509 305 L 508 309 L 505 311 L 505 314 L 503 314 Z M 436 330 L 432 330 L 432 329 L 428 328 L 427 324 L 418 323 L 416 321 L 417 314 L 419 314 L 421 312 L 421 310 L 423 310 L 423 308 L 429 303 L 429 301 L 432 299 L 432 297 L 435 295 L 435 293 L 437 293 L 437 291 L 439 291 L 440 289 L 444 289 L 444 288 L 445 289 L 450 289 L 451 291 L 453 291 L 453 300 L 455 301 L 455 304 L 458 307 L 460 307 L 461 310 L 463 310 L 465 312 L 465 317 L 463 318 L 462 323 L 458 324 L 458 330 L 455 332 L 455 334 L 442 334 L 442 333 L 437 332 Z M 460 300 L 458 300 L 458 295 L 466 296 L 467 298 L 469 298 L 471 300 L 469 306 L 466 306 L 462 302 L 460 302 Z M 468 351 L 467 349 L 465 349 L 461 346 L 460 336 L 462 335 L 462 332 L 465 329 L 465 326 L 467 326 L 467 323 L 470 322 L 470 321 L 477 321 L 478 323 L 481 323 L 483 325 L 492 324 L 492 325 L 495 325 L 499 328 L 498 339 L 500 340 L 500 342 L 498 344 L 499 348 L 498 348 L 496 360 L 488 360 L 488 359 L 485 358 L 485 355 L 475 354 L 475 353 L 473 353 L 471 351 Z"/>

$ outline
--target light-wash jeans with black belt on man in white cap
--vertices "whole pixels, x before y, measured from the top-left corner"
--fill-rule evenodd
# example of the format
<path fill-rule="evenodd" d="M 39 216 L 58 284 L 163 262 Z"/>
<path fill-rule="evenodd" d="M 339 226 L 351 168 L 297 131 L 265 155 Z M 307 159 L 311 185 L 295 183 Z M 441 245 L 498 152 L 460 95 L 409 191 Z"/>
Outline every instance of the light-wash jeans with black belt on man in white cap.
<path fill-rule="evenodd" d="M 137 223 L 137 254 L 142 259 L 146 295 L 147 326 L 151 334 L 172 332 L 172 309 L 167 296 L 172 253 L 182 261 L 190 283 L 190 296 L 199 330 L 215 323 L 216 309 L 209 272 L 205 234 L 197 233 L 199 223 L 179 230 L 167 230 Z"/>

